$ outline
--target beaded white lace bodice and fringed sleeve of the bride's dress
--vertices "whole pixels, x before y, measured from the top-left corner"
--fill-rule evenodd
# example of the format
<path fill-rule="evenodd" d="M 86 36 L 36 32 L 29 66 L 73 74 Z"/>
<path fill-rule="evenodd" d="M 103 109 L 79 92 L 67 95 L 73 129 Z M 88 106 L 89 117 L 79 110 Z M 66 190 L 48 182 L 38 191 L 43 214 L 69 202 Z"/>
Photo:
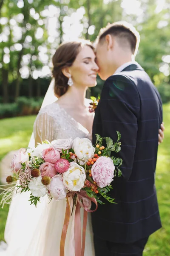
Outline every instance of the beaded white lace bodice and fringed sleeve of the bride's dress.
<path fill-rule="evenodd" d="M 34 137 L 40 140 L 88 138 L 92 134 L 71 117 L 57 102 L 41 108 L 34 122 Z"/>

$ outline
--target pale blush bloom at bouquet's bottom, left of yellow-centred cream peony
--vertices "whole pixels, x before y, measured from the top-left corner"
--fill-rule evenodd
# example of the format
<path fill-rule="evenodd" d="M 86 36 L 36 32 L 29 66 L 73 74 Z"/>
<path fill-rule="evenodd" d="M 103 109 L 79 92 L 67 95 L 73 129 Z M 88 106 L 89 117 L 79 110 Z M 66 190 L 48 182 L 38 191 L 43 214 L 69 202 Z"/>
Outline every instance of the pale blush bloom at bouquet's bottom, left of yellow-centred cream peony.
<path fill-rule="evenodd" d="M 59 201 L 66 197 L 67 189 L 65 188 L 61 175 L 55 175 L 50 184 L 47 186 L 47 189 L 50 191 L 50 194 L 54 201 Z"/>

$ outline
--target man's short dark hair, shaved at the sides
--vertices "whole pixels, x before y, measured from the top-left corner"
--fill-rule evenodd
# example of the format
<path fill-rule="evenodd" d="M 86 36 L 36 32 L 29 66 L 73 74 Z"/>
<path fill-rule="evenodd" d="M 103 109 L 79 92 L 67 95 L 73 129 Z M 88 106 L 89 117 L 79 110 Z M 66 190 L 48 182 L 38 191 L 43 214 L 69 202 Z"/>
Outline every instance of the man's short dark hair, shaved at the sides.
<path fill-rule="evenodd" d="M 117 37 L 119 43 L 122 43 L 122 46 L 128 42 L 132 53 L 136 55 L 139 47 L 140 35 L 132 24 L 127 23 L 126 21 L 118 21 L 108 24 L 105 28 L 100 29 L 97 42 L 105 39 L 105 36 L 108 34 Z"/>

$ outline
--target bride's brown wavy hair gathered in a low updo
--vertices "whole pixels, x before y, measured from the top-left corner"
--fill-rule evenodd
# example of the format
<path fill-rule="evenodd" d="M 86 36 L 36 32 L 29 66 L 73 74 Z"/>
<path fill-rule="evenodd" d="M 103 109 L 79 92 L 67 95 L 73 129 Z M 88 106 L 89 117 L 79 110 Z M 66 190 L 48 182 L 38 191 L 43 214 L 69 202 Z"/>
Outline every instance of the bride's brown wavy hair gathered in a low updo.
<path fill-rule="evenodd" d="M 72 66 L 78 53 L 85 45 L 94 50 L 91 42 L 87 40 L 64 42 L 57 48 L 52 58 L 52 74 L 55 79 L 54 93 L 56 96 L 62 96 L 68 90 L 68 78 L 62 73 L 62 69 Z"/>

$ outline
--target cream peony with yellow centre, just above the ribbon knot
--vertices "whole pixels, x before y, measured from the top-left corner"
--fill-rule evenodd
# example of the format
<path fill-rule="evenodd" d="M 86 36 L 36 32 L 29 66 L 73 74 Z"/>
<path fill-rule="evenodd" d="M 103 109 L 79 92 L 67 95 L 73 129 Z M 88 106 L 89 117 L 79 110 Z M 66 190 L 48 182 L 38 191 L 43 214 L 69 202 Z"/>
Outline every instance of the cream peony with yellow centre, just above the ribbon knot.
<path fill-rule="evenodd" d="M 63 174 L 63 183 L 70 191 L 80 191 L 85 184 L 85 169 L 75 162 L 70 163 L 70 168 Z"/>

